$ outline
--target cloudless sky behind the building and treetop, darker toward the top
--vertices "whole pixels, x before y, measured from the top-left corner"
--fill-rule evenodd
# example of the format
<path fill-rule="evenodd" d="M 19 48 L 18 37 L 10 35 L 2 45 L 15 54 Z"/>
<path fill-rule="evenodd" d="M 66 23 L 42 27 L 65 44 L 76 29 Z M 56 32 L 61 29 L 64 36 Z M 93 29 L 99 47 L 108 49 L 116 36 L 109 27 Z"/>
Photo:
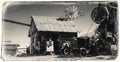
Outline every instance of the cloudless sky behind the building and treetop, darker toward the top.
<path fill-rule="evenodd" d="M 93 25 L 89 32 L 93 33 L 97 24 L 92 21 L 91 12 L 97 7 L 97 4 L 82 4 L 82 2 L 7 2 L 3 5 L 3 19 L 30 24 L 31 15 L 64 17 L 65 8 L 72 5 L 78 7 L 79 11 L 84 12 L 84 16 L 75 20 L 76 26 L 80 30 L 78 36 L 86 34 L 91 23 Z M 3 22 L 3 41 L 12 41 L 12 43 L 20 44 L 20 47 L 26 47 L 30 43 L 28 32 L 28 26 Z"/>

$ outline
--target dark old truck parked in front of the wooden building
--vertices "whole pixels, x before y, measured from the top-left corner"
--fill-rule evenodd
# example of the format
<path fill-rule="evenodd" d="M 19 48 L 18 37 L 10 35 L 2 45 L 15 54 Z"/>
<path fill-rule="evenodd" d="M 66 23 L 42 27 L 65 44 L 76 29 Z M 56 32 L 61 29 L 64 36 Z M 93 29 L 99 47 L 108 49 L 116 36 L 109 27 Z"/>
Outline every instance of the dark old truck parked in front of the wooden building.
<path fill-rule="evenodd" d="M 86 56 L 90 51 L 89 37 L 62 39 L 62 41 L 61 53 L 64 55 Z"/>

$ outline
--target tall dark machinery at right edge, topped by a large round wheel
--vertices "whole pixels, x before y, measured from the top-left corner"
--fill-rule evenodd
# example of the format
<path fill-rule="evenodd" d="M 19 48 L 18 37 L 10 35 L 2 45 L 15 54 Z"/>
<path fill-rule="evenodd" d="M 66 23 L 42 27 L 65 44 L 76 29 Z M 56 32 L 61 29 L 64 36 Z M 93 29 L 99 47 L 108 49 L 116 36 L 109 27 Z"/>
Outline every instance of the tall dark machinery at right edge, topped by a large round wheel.
<path fill-rule="evenodd" d="M 93 9 L 91 18 L 98 24 L 94 36 L 98 53 L 111 53 L 111 48 L 115 50 L 117 45 L 117 2 L 99 3 L 98 7 Z"/>

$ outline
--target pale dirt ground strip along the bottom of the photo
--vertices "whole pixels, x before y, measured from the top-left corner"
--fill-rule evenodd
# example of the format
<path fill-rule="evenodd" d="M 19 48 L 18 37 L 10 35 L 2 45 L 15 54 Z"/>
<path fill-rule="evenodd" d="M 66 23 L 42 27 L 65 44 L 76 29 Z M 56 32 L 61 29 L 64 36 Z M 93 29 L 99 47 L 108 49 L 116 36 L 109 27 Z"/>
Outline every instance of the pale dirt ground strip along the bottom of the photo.
<path fill-rule="evenodd" d="M 99 55 L 91 57 L 79 57 L 79 56 L 62 56 L 62 55 L 32 55 L 32 56 L 5 56 L 4 60 L 13 61 L 79 61 L 79 60 L 114 60 L 116 56 L 111 55 Z"/>

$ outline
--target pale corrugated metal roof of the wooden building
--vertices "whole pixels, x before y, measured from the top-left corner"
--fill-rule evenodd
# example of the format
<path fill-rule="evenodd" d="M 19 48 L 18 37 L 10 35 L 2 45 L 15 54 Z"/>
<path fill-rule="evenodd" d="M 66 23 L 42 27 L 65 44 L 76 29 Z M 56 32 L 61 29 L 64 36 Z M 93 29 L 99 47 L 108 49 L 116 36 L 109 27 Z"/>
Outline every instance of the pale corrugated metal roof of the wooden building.
<path fill-rule="evenodd" d="M 74 21 L 58 21 L 59 17 L 32 16 L 38 31 L 77 32 Z"/>

